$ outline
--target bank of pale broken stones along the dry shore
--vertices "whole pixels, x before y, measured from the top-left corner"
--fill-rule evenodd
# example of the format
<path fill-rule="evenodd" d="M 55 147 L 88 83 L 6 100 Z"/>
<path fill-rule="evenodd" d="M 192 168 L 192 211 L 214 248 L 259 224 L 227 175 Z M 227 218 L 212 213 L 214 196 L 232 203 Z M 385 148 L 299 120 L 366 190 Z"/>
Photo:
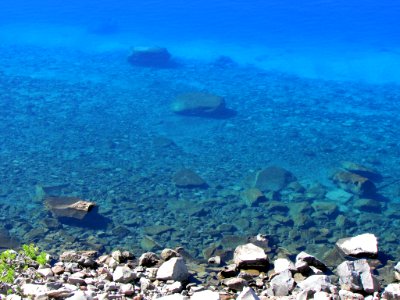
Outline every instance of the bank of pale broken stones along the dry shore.
<path fill-rule="evenodd" d="M 114 251 L 97 257 L 96 251 L 68 251 L 51 265 L 31 267 L 18 274 L 14 291 L 6 299 L 399 299 L 400 283 L 382 288 L 368 260 L 376 257 L 378 242 L 373 234 L 339 240 L 336 246 L 348 260 L 334 270 L 306 252 L 295 261 L 288 257 L 272 264 L 259 245 L 238 246 L 232 261 L 212 257 L 208 264 L 218 266 L 218 284 L 211 286 L 195 280 L 179 249 L 164 249 L 160 255 L 146 252 L 135 259 L 128 251 Z M 400 263 L 393 276 L 400 279 Z"/>

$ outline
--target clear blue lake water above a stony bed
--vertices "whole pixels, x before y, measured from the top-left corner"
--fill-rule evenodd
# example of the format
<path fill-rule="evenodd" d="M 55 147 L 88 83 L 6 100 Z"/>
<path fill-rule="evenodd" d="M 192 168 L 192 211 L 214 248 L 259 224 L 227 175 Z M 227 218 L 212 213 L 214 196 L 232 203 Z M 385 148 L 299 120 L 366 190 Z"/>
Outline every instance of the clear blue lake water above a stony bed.
<path fill-rule="evenodd" d="M 263 233 L 273 251 L 324 256 L 372 232 L 398 260 L 399 12 L 395 1 L 3 1 L 3 245 L 204 257 Z M 173 67 L 128 62 L 153 45 Z M 174 113 L 187 92 L 234 113 Z M 343 161 L 379 173 L 376 193 L 332 180 Z M 260 188 L 250 205 L 247 178 L 269 166 L 296 183 Z M 182 168 L 207 186 L 177 186 Z M 97 211 L 60 219 L 49 195 Z"/>

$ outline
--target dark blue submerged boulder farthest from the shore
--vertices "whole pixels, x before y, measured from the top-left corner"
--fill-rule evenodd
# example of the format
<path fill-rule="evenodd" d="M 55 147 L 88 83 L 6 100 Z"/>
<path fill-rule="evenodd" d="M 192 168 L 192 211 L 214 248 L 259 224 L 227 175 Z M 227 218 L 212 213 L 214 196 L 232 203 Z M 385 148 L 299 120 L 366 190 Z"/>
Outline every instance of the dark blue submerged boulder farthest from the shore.
<path fill-rule="evenodd" d="M 135 66 L 166 68 L 171 66 L 171 54 L 162 47 L 134 47 L 128 61 Z"/>

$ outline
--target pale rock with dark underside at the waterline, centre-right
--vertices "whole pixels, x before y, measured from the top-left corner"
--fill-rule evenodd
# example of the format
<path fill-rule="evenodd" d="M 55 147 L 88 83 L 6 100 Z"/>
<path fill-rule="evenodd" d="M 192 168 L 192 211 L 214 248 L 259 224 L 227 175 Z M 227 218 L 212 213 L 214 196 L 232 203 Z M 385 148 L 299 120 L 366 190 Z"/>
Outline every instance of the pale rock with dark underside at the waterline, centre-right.
<path fill-rule="evenodd" d="M 236 247 L 233 261 L 239 269 L 260 269 L 268 267 L 268 256 L 265 251 L 252 243 Z"/>

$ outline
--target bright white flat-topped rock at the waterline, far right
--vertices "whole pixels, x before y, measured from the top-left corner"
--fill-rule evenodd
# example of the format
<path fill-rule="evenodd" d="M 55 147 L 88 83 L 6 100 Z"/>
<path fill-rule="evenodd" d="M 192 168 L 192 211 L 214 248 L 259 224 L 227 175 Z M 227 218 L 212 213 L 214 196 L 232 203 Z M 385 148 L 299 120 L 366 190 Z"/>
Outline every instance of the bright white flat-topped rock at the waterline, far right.
<path fill-rule="evenodd" d="M 355 237 L 340 239 L 336 245 L 346 255 L 378 255 L 378 240 L 372 233 L 364 233 Z"/>

